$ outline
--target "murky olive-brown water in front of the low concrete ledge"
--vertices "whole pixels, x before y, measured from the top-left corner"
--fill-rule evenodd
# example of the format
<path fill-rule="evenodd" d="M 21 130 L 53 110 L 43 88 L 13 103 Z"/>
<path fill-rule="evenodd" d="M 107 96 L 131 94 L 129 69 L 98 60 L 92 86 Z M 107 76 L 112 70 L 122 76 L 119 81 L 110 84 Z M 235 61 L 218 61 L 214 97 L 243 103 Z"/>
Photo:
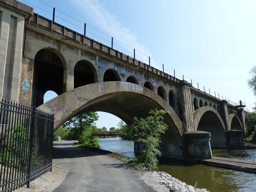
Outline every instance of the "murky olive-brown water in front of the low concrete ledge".
<path fill-rule="evenodd" d="M 160 171 L 168 172 L 186 184 L 206 188 L 210 192 L 256 191 L 256 175 L 181 160 L 161 162 Z M 246 178 L 246 180 L 245 180 Z"/>

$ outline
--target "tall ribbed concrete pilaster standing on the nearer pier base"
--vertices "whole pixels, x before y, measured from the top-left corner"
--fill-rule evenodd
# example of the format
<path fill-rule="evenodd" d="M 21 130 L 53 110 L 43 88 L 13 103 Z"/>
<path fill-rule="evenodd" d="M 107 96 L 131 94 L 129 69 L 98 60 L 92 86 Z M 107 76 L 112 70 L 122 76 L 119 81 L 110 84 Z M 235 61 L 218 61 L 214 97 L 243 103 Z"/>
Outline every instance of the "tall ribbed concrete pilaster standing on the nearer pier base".
<path fill-rule="evenodd" d="M 190 84 L 185 80 L 180 82 L 181 85 L 181 113 L 182 119 L 186 125 L 187 131 L 194 130 L 193 108 L 191 102 Z"/>

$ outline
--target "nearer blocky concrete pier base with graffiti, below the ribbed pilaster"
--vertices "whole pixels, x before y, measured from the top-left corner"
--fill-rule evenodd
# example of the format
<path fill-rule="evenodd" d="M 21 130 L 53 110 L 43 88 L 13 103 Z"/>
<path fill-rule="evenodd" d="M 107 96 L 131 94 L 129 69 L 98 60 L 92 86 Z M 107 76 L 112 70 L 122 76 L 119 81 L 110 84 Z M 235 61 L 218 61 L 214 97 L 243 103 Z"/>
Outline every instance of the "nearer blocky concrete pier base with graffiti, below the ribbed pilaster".
<path fill-rule="evenodd" d="M 211 159 L 211 133 L 204 131 L 188 131 L 183 134 L 185 154 L 188 159 Z"/>

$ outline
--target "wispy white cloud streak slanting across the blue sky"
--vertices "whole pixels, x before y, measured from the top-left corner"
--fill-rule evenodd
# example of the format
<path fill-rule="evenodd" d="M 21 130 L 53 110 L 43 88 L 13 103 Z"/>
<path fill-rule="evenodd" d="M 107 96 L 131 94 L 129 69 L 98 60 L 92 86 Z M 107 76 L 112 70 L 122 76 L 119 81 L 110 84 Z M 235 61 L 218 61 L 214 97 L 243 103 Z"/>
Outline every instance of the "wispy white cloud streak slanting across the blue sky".
<path fill-rule="evenodd" d="M 127 44 L 143 54 L 150 56 L 150 50 L 138 41 L 138 38 L 134 32 L 123 26 L 118 20 L 117 16 L 110 13 L 109 10 L 104 8 L 104 5 L 98 2 L 98 0 L 71 0 L 77 5 L 77 8 L 86 16 L 90 17 L 94 24 L 97 24 L 105 33 L 113 36 L 115 39 L 120 40 L 124 44 Z M 131 48 L 125 45 L 121 46 L 129 51 Z M 130 54 L 130 53 L 129 53 Z M 136 55 L 146 57 L 140 53 Z"/>

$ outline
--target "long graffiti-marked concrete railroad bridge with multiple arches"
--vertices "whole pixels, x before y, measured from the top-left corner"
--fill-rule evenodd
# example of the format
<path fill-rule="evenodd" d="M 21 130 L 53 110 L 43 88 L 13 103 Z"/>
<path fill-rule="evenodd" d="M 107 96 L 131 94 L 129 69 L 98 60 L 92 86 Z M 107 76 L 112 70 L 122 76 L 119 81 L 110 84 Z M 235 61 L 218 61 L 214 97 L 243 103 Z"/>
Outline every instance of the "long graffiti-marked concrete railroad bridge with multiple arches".
<path fill-rule="evenodd" d="M 33 11 L 16 0 L 0 0 L 0 97 L 54 113 L 55 130 L 81 112 L 108 112 L 131 125 L 134 116 L 165 109 L 165 157 L 211 158 L 211 146 L 243 144 L 242 105 L 202 92 Z M 48 90 L 58 97 L 43 104 Z"/>

